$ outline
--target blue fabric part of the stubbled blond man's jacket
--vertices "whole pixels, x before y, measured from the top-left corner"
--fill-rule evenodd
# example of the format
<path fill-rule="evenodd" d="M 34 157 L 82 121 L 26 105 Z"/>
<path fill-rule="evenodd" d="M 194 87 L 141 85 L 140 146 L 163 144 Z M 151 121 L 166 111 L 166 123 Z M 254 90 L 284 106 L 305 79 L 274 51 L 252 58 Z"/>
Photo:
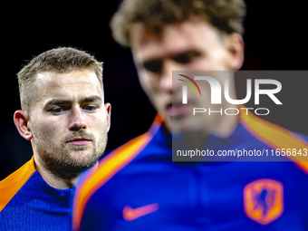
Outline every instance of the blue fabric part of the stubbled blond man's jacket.
<path fill-rule="evenodd" d="M 0 213 L 0 230 L 72 230 L 74 189 L 50 187 L 38 171 Z"/>

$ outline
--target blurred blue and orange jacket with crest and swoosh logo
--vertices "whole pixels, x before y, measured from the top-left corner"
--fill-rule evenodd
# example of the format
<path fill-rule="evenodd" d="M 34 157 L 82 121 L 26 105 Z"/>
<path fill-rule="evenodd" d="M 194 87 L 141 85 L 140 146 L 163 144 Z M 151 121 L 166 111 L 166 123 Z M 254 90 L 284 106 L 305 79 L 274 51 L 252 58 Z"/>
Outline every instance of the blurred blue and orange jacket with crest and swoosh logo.
<path fill-rule="evenodd" d="M 73 230 L 307 230 L 308 161 L 172 162 L 161 118 L 77 188 Z M 307 138 L 252 113 L 207 149 L 304 149 Z"/>

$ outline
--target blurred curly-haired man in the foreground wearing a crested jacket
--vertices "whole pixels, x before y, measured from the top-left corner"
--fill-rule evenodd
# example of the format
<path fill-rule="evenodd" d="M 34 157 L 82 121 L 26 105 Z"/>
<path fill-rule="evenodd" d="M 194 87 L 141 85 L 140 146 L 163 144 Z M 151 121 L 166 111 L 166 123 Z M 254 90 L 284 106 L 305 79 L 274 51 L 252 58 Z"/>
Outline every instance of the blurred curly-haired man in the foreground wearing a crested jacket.
<path fill-rule="evenodd" d="M 241 68 L 244 15 L 241 0 L 123 2 L 111 27 L 116 40 L 131 47 L 141 86 L 159 115 L 147 133 L 111 152 L 82 182 L 74 198 L 74 230 L 307 228 L 304 162 L 171 161 L 171 118 L 179 131 L 198 134 L 203 149 L 307 150 L 301 135 L 249 110 L 194 120 L 190 110 L 198 107 L 197 98 L 172 101 L 182 93 L 182 85 L 172 84 L 172 71 Z M 209 99 L 210 91 L 201 91 L 203 101 Z M 236 98 L 232 76 L 229 93 Z"/>

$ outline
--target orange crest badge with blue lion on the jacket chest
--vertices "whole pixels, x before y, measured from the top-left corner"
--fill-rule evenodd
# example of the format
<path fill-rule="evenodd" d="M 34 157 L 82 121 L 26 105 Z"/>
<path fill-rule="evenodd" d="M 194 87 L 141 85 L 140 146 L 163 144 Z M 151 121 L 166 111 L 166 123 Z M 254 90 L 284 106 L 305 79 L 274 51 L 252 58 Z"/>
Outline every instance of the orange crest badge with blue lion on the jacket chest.
<path fill-rule="evenodd" d="M 246 216 L 261 225 L 268 225 L 284 213 L 284 187 L 277 180 L 255 180 L 245 186 L 243 193 Z"/>

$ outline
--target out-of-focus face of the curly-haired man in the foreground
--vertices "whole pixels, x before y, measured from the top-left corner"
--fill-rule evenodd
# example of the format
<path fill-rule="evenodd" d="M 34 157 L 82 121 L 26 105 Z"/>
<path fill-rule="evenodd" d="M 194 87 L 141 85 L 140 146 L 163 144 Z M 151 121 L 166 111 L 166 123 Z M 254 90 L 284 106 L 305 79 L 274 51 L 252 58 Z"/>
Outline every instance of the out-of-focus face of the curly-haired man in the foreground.
<path fill-rule="evenodd" d="M 228 71 L 230 53 L 226 41 L 217 29 L 205 21 L 190 19 L 182 24 L 167 24 L 158 37 L 144 30 L 142 24 L 135 24 L 130 31 L 131 48 L 140 76 L 140 83 L 156 109 L 165 116 L 170 129 L 171 117 L 182 129 L 197 127 L 193 108 L 217 110 L 222 105 L 210 105 L 209 88 L 201 89 L 203 98 L 193 97 L 188 91 L 188 104 L 172 105 L 173 97 L 181 102 L 183 82 L 172 88 L 172 71 Z M 192 78 L 194 76 L 191 76 Z M 219 82 L 222 80 L 218 79 Z M 185 83 L 184 83 L 185 84 Z M 192 94 L 192 97 L 189 94 Z M 175 98 L 173 98 L 175 99 Z M 193 100 L 191 100 L 193 99 Z M 206 102 L 206 104 L 205 104 Z M 210 130 L 219 120 L 219 115 L 197 115 L 203 129 Z M 195 120 L 194 120 L 195 119 Z M 195 124 L 196 123 L 196 124 Z"/>

